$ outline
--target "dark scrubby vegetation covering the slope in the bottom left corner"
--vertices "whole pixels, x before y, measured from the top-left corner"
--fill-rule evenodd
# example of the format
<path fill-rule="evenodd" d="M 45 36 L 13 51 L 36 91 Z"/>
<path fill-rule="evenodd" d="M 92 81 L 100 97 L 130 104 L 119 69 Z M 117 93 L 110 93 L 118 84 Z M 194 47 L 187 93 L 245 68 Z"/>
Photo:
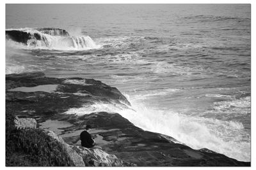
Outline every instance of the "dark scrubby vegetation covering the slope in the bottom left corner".
<path fill-rule="evenodd" d="M 73 166 L 58 141 L 42 129 L 16 129 L 6 109 L 6 166 Z"/>

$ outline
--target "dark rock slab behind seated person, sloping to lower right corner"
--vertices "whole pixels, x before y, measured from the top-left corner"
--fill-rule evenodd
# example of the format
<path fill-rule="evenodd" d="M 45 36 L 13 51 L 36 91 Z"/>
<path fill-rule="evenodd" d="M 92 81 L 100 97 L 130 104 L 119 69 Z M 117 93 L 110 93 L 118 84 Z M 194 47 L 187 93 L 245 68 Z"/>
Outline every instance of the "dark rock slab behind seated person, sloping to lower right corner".
<path fill-rule="evenodd" d="M 143 131 L 118 113 L 98 112 L 81 117 L 66 115 L 61 120 L 73 124 L 63 131 L 64 134 L 72 134 L 62 136 L 68 144 L 79 145 L 74 139 L 90 124 L 92 136 L 102 136 L 101 140 L 106 141 L 97 143 L 102 150 L 138 166 L 248 166 L 246 162 L 220 153 L 200 152 L 174 143 L 161 134 Z"/>

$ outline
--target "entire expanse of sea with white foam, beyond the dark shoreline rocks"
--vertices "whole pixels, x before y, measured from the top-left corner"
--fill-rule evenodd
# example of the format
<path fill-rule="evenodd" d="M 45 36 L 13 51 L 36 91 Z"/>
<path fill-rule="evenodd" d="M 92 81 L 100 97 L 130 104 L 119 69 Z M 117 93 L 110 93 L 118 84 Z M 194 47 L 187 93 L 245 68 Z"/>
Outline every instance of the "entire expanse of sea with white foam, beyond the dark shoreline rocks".
<path fill-rule="evenodd" d="M 8 8 L 6 74 L 93 78 L 131 102 L 84 104 L 66 114 L 119 113 L 191 148 L 250 161 L 250 5 Z M 17 32 L 27 39 L 17 42 Z"/>

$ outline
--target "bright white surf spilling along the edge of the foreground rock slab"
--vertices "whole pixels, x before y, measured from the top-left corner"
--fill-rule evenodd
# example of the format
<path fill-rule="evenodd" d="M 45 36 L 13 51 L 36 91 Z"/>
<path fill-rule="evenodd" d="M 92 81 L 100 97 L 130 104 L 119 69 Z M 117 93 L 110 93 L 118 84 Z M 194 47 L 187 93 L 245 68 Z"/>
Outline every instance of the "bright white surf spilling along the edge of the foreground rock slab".
<path fill-rule="evenodd" d="M 194 149 L 209 148 L 237 160 L 250 161 L 250 134 L 244 131 L 241 122 L 190 117 L 170 110 L 146 108 L 138 101 L 129 101 L 132 104 L 130 109 L 116 104 L 95 103 L 83 108 L 72 108 L 65 113 L 119 113 L 144 130 L 172 136 Z"/>

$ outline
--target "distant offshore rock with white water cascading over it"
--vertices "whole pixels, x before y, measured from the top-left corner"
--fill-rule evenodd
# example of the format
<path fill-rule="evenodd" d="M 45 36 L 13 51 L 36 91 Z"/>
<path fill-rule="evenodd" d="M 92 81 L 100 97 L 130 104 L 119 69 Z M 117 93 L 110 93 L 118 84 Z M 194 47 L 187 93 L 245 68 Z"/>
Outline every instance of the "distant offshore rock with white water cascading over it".
<path fill-rule="evenodd" d="M 6 29 L 5 33 L 6 39 L 21 43 L 29 48 L 90 50 L 101 47 L 90 36 L 70 36 L 64 29 Z"/>

